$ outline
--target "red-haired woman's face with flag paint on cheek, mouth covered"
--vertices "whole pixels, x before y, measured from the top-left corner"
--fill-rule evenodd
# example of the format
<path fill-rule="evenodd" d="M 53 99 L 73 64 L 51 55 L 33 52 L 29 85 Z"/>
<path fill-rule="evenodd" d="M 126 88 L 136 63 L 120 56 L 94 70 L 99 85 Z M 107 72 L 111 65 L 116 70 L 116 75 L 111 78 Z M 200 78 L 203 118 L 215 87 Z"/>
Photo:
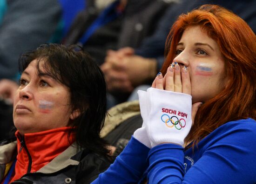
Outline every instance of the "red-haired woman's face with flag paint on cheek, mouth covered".
<path fill-rule="evenodd" d="M 200 26 L 185 29 L 176 54 L 174 62 L 188 66 L 193 103 L 205 102 L 225 88 L 228 79 L 220 48 Z"/>

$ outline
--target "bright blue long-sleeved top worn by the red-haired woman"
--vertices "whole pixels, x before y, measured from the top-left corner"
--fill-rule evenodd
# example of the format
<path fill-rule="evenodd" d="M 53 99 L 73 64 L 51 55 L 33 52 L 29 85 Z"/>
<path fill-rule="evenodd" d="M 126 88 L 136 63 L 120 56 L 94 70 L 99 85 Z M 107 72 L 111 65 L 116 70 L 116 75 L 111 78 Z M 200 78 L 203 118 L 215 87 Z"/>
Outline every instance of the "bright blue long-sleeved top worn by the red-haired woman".
<path fill-rule="evenodd" d="M 92 184 L 255 184 L 256 121 L 230 121 L 192 148 L 162 144 L 151 150 L 132 138 Z"/>

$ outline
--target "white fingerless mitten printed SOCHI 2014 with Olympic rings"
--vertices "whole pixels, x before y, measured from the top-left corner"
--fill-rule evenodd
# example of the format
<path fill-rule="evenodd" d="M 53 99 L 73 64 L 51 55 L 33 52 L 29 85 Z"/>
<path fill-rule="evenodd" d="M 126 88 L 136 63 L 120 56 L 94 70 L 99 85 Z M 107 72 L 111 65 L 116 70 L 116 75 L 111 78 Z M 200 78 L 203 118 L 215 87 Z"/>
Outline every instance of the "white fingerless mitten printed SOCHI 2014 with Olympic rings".
<path fill-rule="evenodd" d="M 147 103 L 146 128 L 151 146 L 161 143 L 183 146 L 192 125 L 192 96 L 149 88 Z"/>

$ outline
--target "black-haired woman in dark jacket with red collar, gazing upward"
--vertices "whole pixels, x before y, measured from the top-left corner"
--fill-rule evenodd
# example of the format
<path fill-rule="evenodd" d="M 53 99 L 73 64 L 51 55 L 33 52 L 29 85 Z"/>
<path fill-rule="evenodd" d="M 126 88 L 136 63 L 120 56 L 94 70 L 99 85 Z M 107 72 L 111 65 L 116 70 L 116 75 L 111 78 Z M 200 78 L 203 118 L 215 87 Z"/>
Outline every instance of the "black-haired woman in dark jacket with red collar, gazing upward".
<path fill-rule="evenodd" d="M 101 70 L 80 48 L 58 44 L 40 45 L 19 64 L 17 140 L 1 143 L 1 184 L 92 182 L 110 165 L 99 135 L 106 114 Z"/>

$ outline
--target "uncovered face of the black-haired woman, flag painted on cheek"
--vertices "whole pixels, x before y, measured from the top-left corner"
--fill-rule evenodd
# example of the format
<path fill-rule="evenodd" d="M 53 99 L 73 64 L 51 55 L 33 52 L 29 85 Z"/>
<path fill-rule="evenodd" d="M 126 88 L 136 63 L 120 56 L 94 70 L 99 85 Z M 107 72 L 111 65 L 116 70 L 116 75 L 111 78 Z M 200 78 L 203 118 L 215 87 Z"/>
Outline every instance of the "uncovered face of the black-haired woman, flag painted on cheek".
<path fill-rule="evenodd" d="M 13 102 L 13 121 L 21 134 L 68 126 L 71 116 L 68 88 L 47 75 L 37 72 L 32 61 L 20 78 Z M 42 72 L 44 61 L 40 61 Z"/>

